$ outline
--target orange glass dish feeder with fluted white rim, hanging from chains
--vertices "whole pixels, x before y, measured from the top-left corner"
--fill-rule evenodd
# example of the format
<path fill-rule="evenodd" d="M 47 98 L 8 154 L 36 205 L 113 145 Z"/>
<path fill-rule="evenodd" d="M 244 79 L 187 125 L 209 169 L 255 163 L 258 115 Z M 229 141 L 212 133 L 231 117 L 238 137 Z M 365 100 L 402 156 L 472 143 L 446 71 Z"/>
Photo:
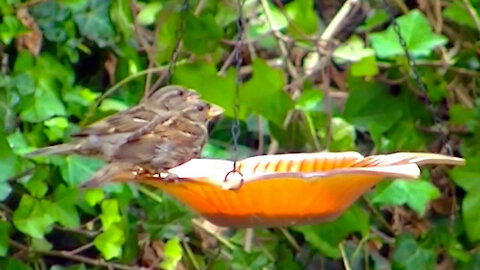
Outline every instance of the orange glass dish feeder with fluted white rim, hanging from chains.
<path fill-rule="evenodd" d="M 335 219 L 386 178 L 418 178 L 418 165 L 464 163 L 461 158 L 429 153 L 366 158 L 356 152 L 281 154 L 238 161 L 243 180 L 225 180 L 232 161 L 194 159 L 169 171 L 178 176 L 173 182 L 131 172 L 115 181 L 159 188 L 219 226 L 277 227 Z"/>

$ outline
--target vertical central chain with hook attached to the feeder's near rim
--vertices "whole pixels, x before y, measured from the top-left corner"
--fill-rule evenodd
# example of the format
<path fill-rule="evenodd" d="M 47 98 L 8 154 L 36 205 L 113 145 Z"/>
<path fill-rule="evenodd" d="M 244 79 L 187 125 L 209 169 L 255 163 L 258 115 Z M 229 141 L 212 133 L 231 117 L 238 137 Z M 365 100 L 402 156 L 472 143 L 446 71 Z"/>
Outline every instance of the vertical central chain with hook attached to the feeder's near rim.
<path fill-rule="evenodd" d="M 237 160 L 238 160 L 238 139 L 240 138 L 240 120 L 238 119 L 238 110 L 240 108 L 239 99 L 240 99 L 240 85 L 242 84 L 242 75 L 240 74 L 240 68 L 242 67 L 243 57 L 242 57 L 242 47 L 243 47 L 243 5 L 245 0 L 237 0 L 238 8 L 238 18 L 237 18 L 237 41 L 234 48 L 234 61 L 235 61 L 235 70 L 236 70 L 236 80 L 235 80 L 235 96 L 233 103 L 233 123 L 232 123 L 232 140 L 233 140 L 233 169 L 225 175 L 224 182 L 228 181 L 228 176 L 230 174 L 239 174 L 241 176 L 240 184 L 235 189 L 239 189 L 243 185 L 243 175 L 237 169 Z"/>

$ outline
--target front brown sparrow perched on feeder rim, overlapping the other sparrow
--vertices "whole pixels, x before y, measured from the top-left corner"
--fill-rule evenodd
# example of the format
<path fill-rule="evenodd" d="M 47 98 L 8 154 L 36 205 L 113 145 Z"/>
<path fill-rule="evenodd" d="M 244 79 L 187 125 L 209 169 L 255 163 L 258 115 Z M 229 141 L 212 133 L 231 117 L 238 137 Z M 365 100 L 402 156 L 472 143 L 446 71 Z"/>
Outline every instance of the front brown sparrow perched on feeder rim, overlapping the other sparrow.
<path fill-rule="evenodd" d="M 98 187 L 123 171 L 161 176 L 164 173 L 164 180 L 174 179 L 167 170 L 200 156 L 208 138 L 207 124 L 222 112 L 203 101 L 191 105 L 182 111 L 181 117 L 157 125 L 134 142 L 119 146 L 114 162 L 97 171 L 82 187 Z"/>

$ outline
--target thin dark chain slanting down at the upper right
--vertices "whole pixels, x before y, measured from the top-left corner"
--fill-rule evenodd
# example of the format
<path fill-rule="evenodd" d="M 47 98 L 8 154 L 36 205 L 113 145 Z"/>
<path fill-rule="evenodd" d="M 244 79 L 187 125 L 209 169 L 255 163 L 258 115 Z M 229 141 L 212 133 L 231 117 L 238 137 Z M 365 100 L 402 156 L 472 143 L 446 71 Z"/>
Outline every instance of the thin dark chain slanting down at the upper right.
<path fill-rule="evenodd" d="M 391 7 L 390 3 L 388 3 L 387 0 L 383 0 L 383 3 L 387 7 Z M 407 42 L 405 41 L 405 39 L 402 36 L 400 25 L 398 24 L 398 22 L 395 20 L 395 17 L 390 12 L 387 12 L 387 13 L 388 13 L 388 16 L 389 16 L 389 20 L 392 24 L 393 31 L 397 35 L 400 46 L 402 47 L 403 52 L 405 53 L 405 56 L 407 57 L 407 64 L 410 67 L 410 69 L 412 70 L 413 78 L 415 79 L 420 91 L 425 95 L 424 100 L 425 100 L 425 105 L 427 107 L 427 110 L 432 115 L 434 124 L 436 126 L 440 126 L 441 123 L 442 123 L 442 120 L 437 115 L 437 112 L 435 110 L 435 107 L 434 107 L 433 103 L 428 98 L 427 88 L 426 88 L 425 83 L 423 82 L 423 80 L 422 80 L 422 78 L 421 78 L 421 76 L 418 72 L 417 63 L 415 62 L 415 59 L 412 57 L 412 55 L 410 54 L 410 51 L 408 50 Z M 442 136 L 441 140 L 443 142 L 446 142 L 446 135 L 447 134 L 446 134 L 445 130 L 440 128 L 439 131 L 440 131 L 440 134 Z"/>

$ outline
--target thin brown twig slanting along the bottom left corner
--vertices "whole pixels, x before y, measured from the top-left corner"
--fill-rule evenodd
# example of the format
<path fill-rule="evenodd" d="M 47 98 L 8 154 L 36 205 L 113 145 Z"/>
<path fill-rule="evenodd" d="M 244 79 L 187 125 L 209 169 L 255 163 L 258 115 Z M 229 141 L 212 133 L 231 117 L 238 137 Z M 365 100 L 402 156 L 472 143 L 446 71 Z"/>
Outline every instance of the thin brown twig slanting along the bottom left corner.
<path fill-rule="evenodd" d="M 45 256 L 51 256 L 51 257 L 59 257 L 59 258 L 65 258 L 69 259 L 72 261 L 78 261 L 86 264 L 90 264 L 93 266 L 101 266 L 101 267 L 106 267 L 107 269 L 120 269 L 120 270 L 146 270 L 144 267 L 137 267 L 137 266 L 127 266 L 127 265 L 122 265 L 122 264 L 117 264 L 117 263 L 111 263 L 111 262 L 105 262 L 102 260 L 95 260 L 91 259 L 88 257 L 76 255 L 76 254 L 70 254 L 68 251 L 61 251 L 61 250 L 30 250 L 27 246 L 14 241 L 10 239 L 10 245 L 12 247 L 15 247 L 17 249 L 27 251 L 27 252 L 35 252 L 38 254 L 42 254 Z"/>

